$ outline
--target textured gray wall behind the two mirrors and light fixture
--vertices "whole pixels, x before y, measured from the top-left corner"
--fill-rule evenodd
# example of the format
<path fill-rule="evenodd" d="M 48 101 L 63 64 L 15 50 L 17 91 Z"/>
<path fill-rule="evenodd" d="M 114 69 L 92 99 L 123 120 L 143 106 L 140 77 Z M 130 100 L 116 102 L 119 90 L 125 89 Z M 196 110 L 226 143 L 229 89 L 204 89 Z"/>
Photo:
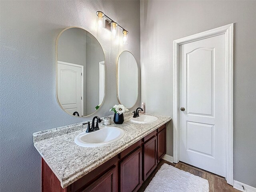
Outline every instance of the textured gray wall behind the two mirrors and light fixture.
<path fill-rule="evenodd" d="M 116 44 L 96 30 L 102 10 L 129 31 L 128 45 Z M 106 97 L 95 115 L 112 114 L 117 104 L 116 60 L 131 51 L 140 61 L 138 1 L 1 1 L 0 2 L 0 191 L 40 192 L 40 154 L 32 133 L 91 120 L 64 112 L 55 97 L 55 41 L 66 27 L 91 32 L 106 56 Z M 138 105 L 140 100 L 138 100 Z"/>

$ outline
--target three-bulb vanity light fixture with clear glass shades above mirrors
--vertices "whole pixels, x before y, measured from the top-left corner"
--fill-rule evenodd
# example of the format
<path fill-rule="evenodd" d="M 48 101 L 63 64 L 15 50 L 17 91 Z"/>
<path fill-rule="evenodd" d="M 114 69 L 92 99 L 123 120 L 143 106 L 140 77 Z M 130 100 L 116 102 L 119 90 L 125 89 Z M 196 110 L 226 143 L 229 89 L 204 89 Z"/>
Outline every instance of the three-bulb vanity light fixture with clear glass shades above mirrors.
<path fill-rule="evenodd" d="M 118 36 L 118 26 L 122 29 L 122 38 L 123 38 L 123 44 L 128 44 L 128 31 L 122 28 L 117 22 L 114 22 L 112 19 L 110 19 L 106 14 L 104 14 L 101 11 L 97 11 L 97 26 L 98 28 L 103 27 L 103 24 L 105 22 L 105 28 L 110 29 L 112 37 L 116 38 Z M 104 19 L 106 18 L 106 20 Z M 107 21 L 107 22 L 106 22 Z"/>

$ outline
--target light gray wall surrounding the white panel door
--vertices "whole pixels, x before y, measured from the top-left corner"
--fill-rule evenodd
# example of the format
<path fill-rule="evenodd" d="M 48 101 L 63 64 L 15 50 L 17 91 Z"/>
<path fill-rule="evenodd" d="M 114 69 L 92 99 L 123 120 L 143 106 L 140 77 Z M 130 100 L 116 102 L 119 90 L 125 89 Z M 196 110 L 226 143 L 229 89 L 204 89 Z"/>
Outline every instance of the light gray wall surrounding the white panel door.
<path fill-rule="evenodd" d="M 173 40 L 235 23 L 234 179 L 256 187 L 256 1 L 141 1 L 142 97 L 173 115 Z M 154 93 L 158 93 L 157 95 Z M 154 95 L 154 96 L 152 96 Z M 172 124 L 168 126 L 172 155 Z"/>

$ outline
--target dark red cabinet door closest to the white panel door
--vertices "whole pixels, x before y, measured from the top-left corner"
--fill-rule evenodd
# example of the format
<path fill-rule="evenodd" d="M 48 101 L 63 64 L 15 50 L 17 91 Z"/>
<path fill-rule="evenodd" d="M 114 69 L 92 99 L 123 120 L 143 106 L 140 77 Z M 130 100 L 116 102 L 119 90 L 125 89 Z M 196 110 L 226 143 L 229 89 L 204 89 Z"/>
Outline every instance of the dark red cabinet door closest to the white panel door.
<path fill-rule="evenodd" d="M 166 154 L 166 128 L 161 130 L 157 135 L 157 160 Z"/>

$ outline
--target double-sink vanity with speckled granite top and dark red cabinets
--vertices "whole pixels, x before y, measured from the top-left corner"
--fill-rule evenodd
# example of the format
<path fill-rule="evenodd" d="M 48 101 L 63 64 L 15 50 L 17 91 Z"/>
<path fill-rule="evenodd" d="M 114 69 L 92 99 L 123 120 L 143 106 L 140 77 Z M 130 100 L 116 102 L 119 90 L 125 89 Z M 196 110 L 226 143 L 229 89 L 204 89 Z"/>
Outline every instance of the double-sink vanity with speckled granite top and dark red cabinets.
<path fill-rule="evenodd" d="M 73 124 L 34 133 L 42 156 L 42 192 L 131 192 L 166 153 L 168 116 L 126 114 L 123 124 L 86 133 Z"/>

